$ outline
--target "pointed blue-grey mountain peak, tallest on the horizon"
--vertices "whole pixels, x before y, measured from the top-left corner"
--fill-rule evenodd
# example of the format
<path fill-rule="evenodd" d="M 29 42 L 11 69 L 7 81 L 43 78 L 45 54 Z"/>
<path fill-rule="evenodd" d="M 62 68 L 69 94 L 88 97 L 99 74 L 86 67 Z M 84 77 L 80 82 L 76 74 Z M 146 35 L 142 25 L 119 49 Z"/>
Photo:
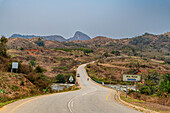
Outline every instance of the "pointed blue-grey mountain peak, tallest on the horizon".
<path fill-rule="evenodd" d="M 90 38 L 88 35 L 80 32 L 80 31 L 77 31 L 77 32 L 74 34 L 73 37 L 71 37 L 71 38 L 68 39 L 68 41 L 71 41 L 71 40 L 90 40 L 90 39 L 91 39 L 91 38 Z"/>

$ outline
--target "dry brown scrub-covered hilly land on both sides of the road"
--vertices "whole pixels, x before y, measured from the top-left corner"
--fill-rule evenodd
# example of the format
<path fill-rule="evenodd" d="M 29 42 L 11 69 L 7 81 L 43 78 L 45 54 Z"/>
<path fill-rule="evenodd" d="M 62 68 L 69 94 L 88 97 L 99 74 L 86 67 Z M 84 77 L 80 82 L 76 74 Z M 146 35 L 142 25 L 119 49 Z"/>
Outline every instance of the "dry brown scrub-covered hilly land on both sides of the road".
<path fill-rule="evenodd" d="M 170 104 L 170 33 L 145 33 L 129 39 L 98 36 L 84 41 L 59 42 L 42 37 L 2 37 L 0 41 L 1 101 L 51 92 L 51 84 L 70 83 L 70 76 L 73 76 L 74 83 L 78 65 L 96 61 L 87 65 L 87 71 L 94 80 L 125 84 L 122 74 L 141 74 L 143 79 L 138 84 L 138 98 Z M 11 74 L 13 61 L 19 63 L 19 69 Z M 156 96 L 150 100 L 150 95 Z M 129 96 L 134 97 L 134 92 L 130 91 Z"/>

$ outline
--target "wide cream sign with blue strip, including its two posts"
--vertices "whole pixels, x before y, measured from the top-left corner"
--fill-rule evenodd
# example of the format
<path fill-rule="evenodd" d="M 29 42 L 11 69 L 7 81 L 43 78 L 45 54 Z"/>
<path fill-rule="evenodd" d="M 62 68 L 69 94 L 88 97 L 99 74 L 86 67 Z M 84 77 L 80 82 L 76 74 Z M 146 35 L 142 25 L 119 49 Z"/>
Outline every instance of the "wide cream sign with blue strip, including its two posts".
<path fill-rule="evenodd" d="M 126 98 L 127 98 L 127 81 L 136 82 L 136 98 L 137 98 L 137 82 L 142 80 L 141 75 L 123 74 L 123 81 L 126 81 Z"/>

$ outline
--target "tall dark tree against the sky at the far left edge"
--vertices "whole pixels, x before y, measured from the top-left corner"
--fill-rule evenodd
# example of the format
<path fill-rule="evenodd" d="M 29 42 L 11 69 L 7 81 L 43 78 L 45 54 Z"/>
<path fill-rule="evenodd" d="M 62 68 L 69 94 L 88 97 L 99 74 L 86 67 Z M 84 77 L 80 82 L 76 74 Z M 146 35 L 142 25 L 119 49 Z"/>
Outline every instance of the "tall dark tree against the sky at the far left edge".
<path fill-rule="evenodd" d="M 7 48 L 6 48 L 7 42 L 8 39 L 2 36 L 0 39 L 0 56 L 7 57 Z"/>

